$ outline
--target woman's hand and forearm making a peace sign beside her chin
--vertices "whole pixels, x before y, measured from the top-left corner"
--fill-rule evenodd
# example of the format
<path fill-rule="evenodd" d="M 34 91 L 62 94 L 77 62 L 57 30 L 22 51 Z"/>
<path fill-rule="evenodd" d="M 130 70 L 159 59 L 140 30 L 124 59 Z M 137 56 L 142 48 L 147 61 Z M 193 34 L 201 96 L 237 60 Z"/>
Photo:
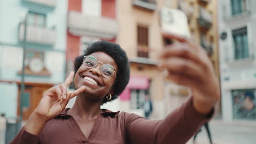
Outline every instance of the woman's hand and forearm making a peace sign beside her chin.
<path fill-rule="evenodd" d="M 84 91 L 85 87 L 80 87 L 74 92 L 67 92 L 73 76 L 74 73 L 72 71 L 64 83 L 52 87 L 44 93 L 36 110 L 30 115 L 19 134 L 10 143 L 38 143 L 39 134 L 44 125 L 65 109 L 69 99 Z"/>

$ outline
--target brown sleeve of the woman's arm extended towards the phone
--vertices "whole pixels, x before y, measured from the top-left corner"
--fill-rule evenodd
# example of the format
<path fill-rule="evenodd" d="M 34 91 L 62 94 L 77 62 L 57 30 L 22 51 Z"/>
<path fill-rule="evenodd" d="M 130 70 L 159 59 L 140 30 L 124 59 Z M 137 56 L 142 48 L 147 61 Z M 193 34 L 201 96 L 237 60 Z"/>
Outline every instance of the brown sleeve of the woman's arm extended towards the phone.
<path fill-rule="evenodd" d="M 160 121 L 150 121 L 131 114 L 127 122 L 129 143 L 175 143 L 184 144 L 201 126 L 210 120 L 213 109 L 208 115 L 197 112 L 193 98 Z"/>

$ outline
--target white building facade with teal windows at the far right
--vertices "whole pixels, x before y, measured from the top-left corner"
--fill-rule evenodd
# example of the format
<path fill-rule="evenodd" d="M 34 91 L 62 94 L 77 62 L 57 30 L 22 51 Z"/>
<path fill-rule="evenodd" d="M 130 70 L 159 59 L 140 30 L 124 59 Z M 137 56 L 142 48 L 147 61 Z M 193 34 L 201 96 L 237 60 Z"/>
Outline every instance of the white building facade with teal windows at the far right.
<path fill-rule="evenodd" d="M 220 80 L 224 121 L 256 119 L 255 1 L 219 1 Z"/>

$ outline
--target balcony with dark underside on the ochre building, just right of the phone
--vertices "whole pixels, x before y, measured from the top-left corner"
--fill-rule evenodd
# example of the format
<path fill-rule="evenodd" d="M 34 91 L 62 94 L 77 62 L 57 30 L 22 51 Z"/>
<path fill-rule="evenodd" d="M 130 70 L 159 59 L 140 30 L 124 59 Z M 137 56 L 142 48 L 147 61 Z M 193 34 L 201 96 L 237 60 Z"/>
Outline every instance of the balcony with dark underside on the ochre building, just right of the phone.
<path fill-rule="evenodd" d="M 205 8 L 202 7 L 199 9 L 199 13 L 200 15 L 197 19 L 199 26 L 206 30 L 210 29 L 212 27 L 212 15 Z"/>

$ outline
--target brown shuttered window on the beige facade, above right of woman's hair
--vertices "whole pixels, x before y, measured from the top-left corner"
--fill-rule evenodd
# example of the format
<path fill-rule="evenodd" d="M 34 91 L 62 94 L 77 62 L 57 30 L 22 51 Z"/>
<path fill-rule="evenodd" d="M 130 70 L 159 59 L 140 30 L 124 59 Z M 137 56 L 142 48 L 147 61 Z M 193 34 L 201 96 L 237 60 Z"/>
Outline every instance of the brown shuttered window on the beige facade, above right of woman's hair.
<path fill-rule="evenodd" d="M 137 27 L 138 57 L 148 57 L 148 27 Z"/>

